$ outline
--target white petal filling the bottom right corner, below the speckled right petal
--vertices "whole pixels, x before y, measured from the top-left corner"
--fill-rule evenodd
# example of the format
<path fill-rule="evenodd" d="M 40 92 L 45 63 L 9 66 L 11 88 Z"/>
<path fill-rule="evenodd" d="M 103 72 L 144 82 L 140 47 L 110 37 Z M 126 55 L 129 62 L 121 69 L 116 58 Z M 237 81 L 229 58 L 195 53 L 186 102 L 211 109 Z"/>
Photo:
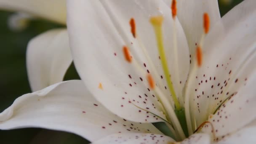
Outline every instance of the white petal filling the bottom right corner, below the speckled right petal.
<path fill-rule="evenodd" d="M 255 144 L 256 143 L 256 127 L 243 128 L 235 133 L 225 136 L 217 144 Z"/>

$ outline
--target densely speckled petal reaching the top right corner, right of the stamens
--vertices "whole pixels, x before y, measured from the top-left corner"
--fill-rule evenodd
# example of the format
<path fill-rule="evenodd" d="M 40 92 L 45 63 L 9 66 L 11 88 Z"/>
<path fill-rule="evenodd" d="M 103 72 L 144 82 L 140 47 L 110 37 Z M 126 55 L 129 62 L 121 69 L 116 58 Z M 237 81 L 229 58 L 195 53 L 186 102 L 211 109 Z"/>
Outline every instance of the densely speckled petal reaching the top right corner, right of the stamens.
<path fill-rule="evenodd" d="M 207 37 L 203 65 L 191 83 L 191 109 L 200 125 L 255 74 L 256 5 L 246 0 L 227 13 Z M 252 90 L 253 91 L 253 90 Z"/>

